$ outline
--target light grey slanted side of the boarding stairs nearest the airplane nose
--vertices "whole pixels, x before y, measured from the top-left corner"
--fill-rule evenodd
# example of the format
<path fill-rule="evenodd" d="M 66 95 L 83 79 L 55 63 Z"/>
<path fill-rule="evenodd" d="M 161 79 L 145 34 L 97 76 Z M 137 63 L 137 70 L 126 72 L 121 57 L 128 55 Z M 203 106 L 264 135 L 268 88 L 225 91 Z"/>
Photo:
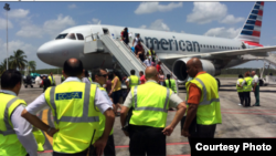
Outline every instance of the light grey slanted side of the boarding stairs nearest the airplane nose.
<path fill-rule="evenodd" d="M 121 41 L 112 39 L 107 34 L 100 35 L 99 39 L 116 59 L 120 69 L 124 70 L 128 76 L 130 75 L 130 70 L 135 70 L 137 76 L 139 76 L 140 71 L 146 70 L 146 65 L 139 59 L 137 59 L 131 50 L 127 48 Z"/>

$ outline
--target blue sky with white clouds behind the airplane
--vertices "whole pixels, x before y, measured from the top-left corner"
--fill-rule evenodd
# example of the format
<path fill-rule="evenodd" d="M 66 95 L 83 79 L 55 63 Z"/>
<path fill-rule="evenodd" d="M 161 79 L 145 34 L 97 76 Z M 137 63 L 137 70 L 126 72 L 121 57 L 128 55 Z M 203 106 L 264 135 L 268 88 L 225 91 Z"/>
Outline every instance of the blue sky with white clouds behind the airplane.
<path fill-rule="evenodd" d="M 2 8 L 7 1 L 0 1 Z M 40 2 L 8 1 L 9 54 L 21 49 L 36 69 L 52 69 L 36 56 L 43 43 L 63 30 L 82 24 L 109 24 L 146 28 L 179 33 L 235 38 L 255 2 Z M 265 2 L 261 44 L 276 45 L 276 2 Z M 7 11 L 0 10 L 0 62 L 7 55 Z M 262 67 L 251 61 L 235 67 Z"/>

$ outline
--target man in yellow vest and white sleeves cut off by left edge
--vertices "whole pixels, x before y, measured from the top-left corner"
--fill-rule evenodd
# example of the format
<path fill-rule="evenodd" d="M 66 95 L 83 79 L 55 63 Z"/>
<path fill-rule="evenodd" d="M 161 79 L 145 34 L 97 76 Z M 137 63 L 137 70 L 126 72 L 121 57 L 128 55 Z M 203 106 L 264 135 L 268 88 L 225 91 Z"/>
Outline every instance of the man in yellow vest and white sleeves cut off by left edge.
<path fill-rule="evenodd" d="M 26 105 L 18 97 L 22 84 L 21 73 L 8 70 L 1 75 L 0 91 L 0 155 L 38 156 L 32 125 L 21 117 Z"/>

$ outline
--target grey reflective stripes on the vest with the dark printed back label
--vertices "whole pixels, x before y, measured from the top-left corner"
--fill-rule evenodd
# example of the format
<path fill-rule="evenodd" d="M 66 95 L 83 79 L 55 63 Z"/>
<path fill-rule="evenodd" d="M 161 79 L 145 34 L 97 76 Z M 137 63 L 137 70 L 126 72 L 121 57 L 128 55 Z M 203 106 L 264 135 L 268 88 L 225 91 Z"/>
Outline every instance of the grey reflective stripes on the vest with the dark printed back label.
<path fill-rule="evenodd" d="M 89 106 L 89 97 L 91 97 L 91 84 L 85 84 L 85 92 L 84 92 L 84 105 L 83 105 L 83 116 L 82 117 L 73 117 L 73 116 L 62 116 L 57 119 L 56 115 L 56 105 L 55 105 L 55 86 L 51 87 L 50 91 L 50 103 L 54 108 L 54 121 L 56 124 L 60 122 L 71 122 L 71 123 L 92 123 L 92 122 L 99 122 L 98 116 L 88 116 L 88 106 Z"/>

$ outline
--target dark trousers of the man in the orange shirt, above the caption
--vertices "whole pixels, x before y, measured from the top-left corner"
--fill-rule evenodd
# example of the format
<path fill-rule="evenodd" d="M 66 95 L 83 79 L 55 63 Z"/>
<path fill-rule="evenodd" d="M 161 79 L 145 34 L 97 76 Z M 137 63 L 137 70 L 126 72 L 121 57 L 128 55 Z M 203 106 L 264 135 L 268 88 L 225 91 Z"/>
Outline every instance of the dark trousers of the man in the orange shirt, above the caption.
<path fill-rule="evenodd" d="M 199 125 L 197 124 L 197 132 L 193 134 L 190 134 L 191 136 L 188 137 L 190 147 L 191 147 L 191 141 L 192 138 L 214 138 L 214 132 L 216 128 L 216 124 L 214 125 Z"/>

